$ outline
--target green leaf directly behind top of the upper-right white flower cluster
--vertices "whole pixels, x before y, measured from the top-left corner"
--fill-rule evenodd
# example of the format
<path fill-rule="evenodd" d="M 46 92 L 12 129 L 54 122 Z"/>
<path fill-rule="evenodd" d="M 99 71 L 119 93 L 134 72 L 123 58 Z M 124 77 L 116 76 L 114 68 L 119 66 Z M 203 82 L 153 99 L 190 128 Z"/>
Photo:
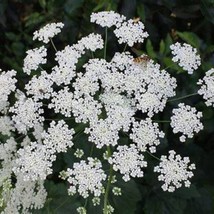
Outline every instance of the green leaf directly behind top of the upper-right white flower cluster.
<path fill-rule="evenodd" d="M 192 33 L 192 32 L 178 32 L 177 35 L 183 39 L 188 44 L 192 45 L 193 47 L 199 49 L 200 48 L 200 38 Z"/>

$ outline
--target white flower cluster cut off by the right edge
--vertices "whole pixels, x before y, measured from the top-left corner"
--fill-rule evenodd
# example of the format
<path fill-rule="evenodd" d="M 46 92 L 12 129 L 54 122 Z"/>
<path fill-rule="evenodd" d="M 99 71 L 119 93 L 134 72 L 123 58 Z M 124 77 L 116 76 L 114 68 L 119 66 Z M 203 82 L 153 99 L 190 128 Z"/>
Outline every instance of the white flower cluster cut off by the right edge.
<path fill-rule="evenodd" d="M 200 79 L 197 84 L 201 86 L 198 94 L 203 95 L 206 100 L 205 104 L 214 107 L 214 69 L 207 71 L 205 77 Z"/>

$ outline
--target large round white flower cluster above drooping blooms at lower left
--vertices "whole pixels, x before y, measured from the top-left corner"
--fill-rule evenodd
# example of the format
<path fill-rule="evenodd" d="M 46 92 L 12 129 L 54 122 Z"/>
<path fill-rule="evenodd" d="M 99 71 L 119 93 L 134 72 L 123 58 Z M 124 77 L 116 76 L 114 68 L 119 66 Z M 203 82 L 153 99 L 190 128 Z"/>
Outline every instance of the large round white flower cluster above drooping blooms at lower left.
<path fill-rule="evenodd" d="M 21 174 L 25 181 L 45 180 L 52 173 L 52 163 L 56 156 L 45 145 L 32 142 L 17 153 L 13 171 L 16 175 Z"/>

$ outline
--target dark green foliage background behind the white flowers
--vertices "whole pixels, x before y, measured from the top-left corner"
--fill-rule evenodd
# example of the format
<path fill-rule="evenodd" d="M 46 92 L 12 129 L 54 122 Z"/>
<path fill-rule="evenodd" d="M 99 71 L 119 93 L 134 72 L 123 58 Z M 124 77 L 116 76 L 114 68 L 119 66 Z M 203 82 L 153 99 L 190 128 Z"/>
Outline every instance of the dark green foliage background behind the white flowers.
<path fill-rule="evenodd" d="M 36 47 L 32 34 L 49 22 L 65 23 L 63 33 L 54 38 L 59 49 L 93 31 L 103 33 L 100 28 L 89 23 L 91 12 L 101 10 L 115 10 L 128 18 L 140 17 L 150 39 L 146 44 L 136 45 L 129 51 L 135 55 L 147 52 L 163 68 L 172 64 L 169 55 L 169 45 L 172 42 L 183 41 L 196 47 L 203 64 L 198 71 L 190 76 L 174 64 L 169 72 L 178 81 L 177 97 L 197 92 L 197 80 L 214 65 L 214 0 L 0 0 L 0 67 L 3 70 L 17 70 L 21 78 L 25 51 Z M 111 35 L 109 39 L 113 39 Z M 108 55 L 112 56 L 118 49 L 121 50 L 121 47 L 112 42 L 108 46 Z M 197 95 L 169 102 L 164 113 L 155 119 L 168 120 L 171 109 L 179 102 L 196 106 L 202 111 L 205 128 L 183 144 L 178 141 L 179 136 L 172 133 L 168 123 L 161 123 L 160 127 L 167 138 L 158 147 L 157 156 L 167 154 L 169 149 L 175 149 L 182 156 L 189 156 L 197 166 L 191 188 L 181 188 L 174 193 L 163 192 L 157 175 L 152 172 L 157 161 L 146 156 L 149 166 L 145 170 L 145 177 L 128 183 L 119 181 L 118 185 L 123 190 L 122 197 L 110 197 L 116 214 L 214 213 L 214 110 L 206 107 Z M 77 128 L 81 130 L 83 127 L 80 125 Z M 86 150 L 89 151 L 90 146 L 86 140 L 84 135 L 79 135 L 75 142 L 80 147 L 88 147 Z M 123 140 L 125 142 L 127 138 L 123 136 Z M 85 201 L 80 197 L 67 196 L 67 184 L 57 177 L 57 172 L 72 166 L 76 161 L 73 152 L 69 150 L 67 154 L 58 156 L 54 164 L 56 175 L 48 177 L 46 183 L 49 190 L 46 206 L 34 213 L 75 214 L 76 208 L 84 205 Z M 102 213 L 100 207 L 94 208 L 90 202 L 87 208 L 89 214 Z"/>

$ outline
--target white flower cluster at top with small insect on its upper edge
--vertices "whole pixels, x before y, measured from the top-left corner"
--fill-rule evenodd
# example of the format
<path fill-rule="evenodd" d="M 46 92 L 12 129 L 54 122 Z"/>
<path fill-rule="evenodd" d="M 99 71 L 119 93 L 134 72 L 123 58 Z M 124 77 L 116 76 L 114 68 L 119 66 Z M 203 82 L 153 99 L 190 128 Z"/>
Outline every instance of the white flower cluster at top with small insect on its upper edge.
<path fill-rule="evenodd" d="M 121 26 L 114 30 L 114 33 L 120 44 L 126 43 L 130 47 L 137 42 L 143 43 L 144 39 L 149 36 L 148 33 L 144 31 L 144 24 L 140 21 L 134 22 L 132 19 L 123 22 Z"/>

